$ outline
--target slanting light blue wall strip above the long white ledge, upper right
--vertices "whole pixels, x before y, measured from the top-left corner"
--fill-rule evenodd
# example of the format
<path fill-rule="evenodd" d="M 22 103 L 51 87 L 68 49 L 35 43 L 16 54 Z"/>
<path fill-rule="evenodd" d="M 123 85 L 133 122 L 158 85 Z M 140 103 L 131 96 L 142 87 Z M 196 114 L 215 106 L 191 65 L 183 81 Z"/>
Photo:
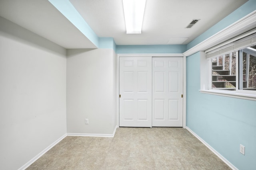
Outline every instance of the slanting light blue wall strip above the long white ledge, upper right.
<path fill-rule="evenodd" d="M 220 30 L 228 27 L 235 21 L 240 20 L 241 18 L 250 14 L 254 10 L 256 10 L 256 0 L 249 0 L 244 5 L 240 6 L 237 10 L 232 12 L 230 15 L 226 16 L 223 20 L 219 21 L 217 24 L 215 24 L 210 29 L 202 33 L 200 36 L 196 37 L 196 39 L 191 41 L 187 45 L 187 50 L 194 47 L 198 43 L 206 40 L 207 38 L 211 37 L 215 33 L 218 33 Z"/>

